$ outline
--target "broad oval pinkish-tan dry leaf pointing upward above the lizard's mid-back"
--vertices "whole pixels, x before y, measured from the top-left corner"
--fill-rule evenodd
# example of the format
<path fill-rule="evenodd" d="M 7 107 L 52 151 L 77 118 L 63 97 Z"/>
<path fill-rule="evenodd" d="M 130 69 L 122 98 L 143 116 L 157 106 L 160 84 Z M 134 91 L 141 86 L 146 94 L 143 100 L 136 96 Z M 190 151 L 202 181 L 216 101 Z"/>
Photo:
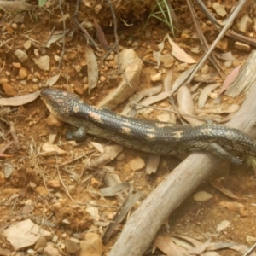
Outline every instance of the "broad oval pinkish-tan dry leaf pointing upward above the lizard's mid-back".
<path fill-rule="evenodd" d="M 195 115 L 194 102 L 190 90 L 185 85 L 177 90 L 177 104 L 181 114 L 185 113 L 191 115 L 191 117 L 183 115 L 183 119 L 187 120 L 192 125 L 202 124 L 200 120 L 192 117 Z"/>

